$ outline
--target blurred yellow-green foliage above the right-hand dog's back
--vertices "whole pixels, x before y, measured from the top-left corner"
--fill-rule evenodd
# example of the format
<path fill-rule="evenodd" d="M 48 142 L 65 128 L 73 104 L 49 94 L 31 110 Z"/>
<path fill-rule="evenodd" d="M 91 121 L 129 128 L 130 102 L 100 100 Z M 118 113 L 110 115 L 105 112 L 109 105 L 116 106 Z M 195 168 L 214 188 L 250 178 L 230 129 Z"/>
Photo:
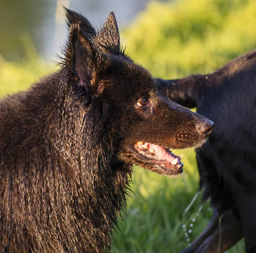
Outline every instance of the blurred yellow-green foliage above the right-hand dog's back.
<path fill-rule="evenodd" d="M 122 34 L 157 77 L 207 73 L 256 46 L 255 0 L 151 2 Z"/>

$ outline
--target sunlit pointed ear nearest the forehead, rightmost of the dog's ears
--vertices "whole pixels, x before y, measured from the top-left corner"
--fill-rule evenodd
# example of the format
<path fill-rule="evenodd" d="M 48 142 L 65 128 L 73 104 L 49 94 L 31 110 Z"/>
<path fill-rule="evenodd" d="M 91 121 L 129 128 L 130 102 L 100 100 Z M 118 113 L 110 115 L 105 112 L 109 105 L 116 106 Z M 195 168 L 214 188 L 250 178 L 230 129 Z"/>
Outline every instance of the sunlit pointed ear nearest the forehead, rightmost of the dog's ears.
<path fill-rule="evenodd" d="M 120 37 L 113 11 L 109 14 L 104 26 L 100 29 L 97 40 L 103 51 L 120 54 Z"/>

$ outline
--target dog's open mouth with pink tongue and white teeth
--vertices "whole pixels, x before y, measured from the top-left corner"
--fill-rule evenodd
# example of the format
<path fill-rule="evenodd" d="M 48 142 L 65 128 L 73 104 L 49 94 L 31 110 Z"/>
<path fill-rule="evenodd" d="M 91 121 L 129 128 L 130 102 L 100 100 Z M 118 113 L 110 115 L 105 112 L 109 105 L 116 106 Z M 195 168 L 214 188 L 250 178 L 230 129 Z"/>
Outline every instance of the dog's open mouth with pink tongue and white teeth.
<path fill-rule="evenodd" d="M 134 144 L 133 156 L 143 164 L 150 164 L 162 170 L 165 174 L 179 174 L 183 172 L 182 156 L 177 156 L 168 148 L 148 142 L 137 142 Z M 144 166 L 143 166 L 144 167 Z"/>

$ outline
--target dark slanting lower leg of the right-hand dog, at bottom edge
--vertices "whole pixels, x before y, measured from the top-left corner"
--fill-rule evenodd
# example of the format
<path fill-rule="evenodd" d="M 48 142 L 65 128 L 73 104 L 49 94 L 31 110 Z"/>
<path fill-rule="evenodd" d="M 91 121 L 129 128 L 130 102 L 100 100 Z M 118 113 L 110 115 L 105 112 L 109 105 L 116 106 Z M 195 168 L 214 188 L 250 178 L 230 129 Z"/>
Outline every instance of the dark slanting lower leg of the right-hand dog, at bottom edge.
<path fill-rule="evenodd" d="M 219 229 L 219 216 L 215 212 L 204 232 L 181 253 L 221 253 L 243 237 L 241 222 L 231 210 L 224 213 L 220 224 L 221 230 Z"/>

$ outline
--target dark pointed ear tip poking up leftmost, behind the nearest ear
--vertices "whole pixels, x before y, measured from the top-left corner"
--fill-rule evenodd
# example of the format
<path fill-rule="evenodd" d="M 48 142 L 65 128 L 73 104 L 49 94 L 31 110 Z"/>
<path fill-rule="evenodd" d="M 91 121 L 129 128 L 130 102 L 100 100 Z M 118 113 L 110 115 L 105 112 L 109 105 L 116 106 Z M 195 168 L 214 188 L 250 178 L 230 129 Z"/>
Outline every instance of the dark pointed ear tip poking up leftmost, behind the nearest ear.
<path fill-rule="evenodd" d="M 91 25 L 89 20 L 87 20 L 86 17 L 84 17 L 83 15 L 81 15 L 75 11 L 71 11 L 70 9 L 67 9 L 65 7 L 64 7 L 64 9 L 66 11 L 67 25 L 69 27 L 73 24 L 78 23 L 84 32 L 86 32 L 90 35 L 96 36 L 95 29 L 93 28 L 93 26 Z"/>

